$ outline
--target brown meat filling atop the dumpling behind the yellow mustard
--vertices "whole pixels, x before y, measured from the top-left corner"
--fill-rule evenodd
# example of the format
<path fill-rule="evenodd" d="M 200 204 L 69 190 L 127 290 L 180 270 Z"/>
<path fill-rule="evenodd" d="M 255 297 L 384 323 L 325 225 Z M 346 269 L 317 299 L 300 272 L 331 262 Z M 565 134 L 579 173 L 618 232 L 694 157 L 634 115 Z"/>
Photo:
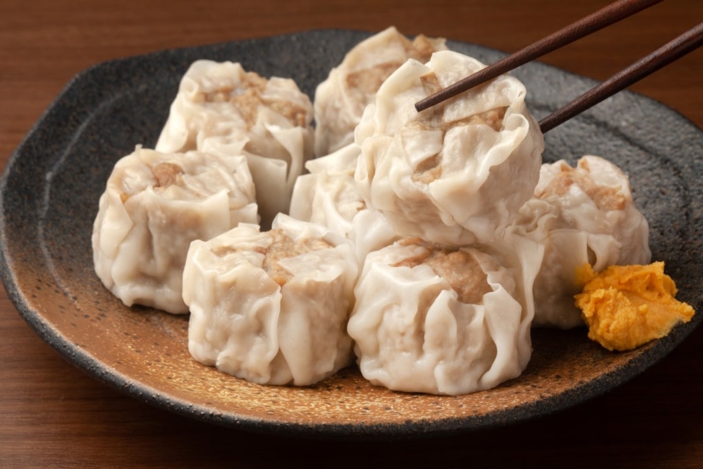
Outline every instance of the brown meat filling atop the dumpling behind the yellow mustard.
<path fill-rule="evenodd" d="M 551 196 L 561 197 L 574 185 L 581 188 L 593 200 L 598 210 L 603 212 L 624 210 L 627 205 L 626 197 L 619 188 L 600 186 L 590 176 L 572 167 L 562 167 L 561 172 L 550 181 L 550 184 L 535 196 L 541 199 Z"/>

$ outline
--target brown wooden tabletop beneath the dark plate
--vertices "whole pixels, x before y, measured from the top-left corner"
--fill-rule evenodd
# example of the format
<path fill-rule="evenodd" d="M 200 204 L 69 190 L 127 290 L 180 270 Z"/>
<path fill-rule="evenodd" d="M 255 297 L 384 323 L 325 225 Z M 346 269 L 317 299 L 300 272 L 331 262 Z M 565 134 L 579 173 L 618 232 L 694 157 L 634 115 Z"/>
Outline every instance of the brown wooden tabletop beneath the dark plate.
<path fill-rule="evenodd" d="M 382 6 L 378 6 L 381 4 Z M 103 60 L 248 37 L 396 25 L 406 34 L 515 51 L 606 0 L 2 0 L 0 167 L 77 72 Z M 432 6 L 430 6 L 432 5 Z M 544 62 L 605 79 L 703 19 L 669 0 L 551 53 Z M 703 126 L 703 50 L 636 86 Z M 702 314 L 703 311 L 699 311 Z M 155 409 L 97 383 L 34 334 L 0 293 L 0 468 L 352 467 L 503 463 L 703 466 L 703 330 L 642 375 L 572 409 L 509 428 L 399 442 L 256 435 Z M 571 465 L 571 464 L 569 464 Z"/>

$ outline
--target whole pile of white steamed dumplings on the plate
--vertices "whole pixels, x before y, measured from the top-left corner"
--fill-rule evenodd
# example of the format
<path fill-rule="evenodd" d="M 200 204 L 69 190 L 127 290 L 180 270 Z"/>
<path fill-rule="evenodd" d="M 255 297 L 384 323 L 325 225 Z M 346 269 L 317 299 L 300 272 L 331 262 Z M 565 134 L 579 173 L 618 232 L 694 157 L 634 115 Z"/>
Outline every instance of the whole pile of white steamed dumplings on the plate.
<path fill-rule="evenodd" d="M 517 378 L 531 328 L 582 325 L 576 269 L 651 253 L 619 168 L 543 164 L 515 77 L 415 110 L 483 67 L 394 27 L 313 101 L 292 79 L 196 61 L 155 148 L 108 179 L 96 274 L 127 306 L 190 313 L 193 359 L 253 383 L 354 364 L 402 392 Z"/>

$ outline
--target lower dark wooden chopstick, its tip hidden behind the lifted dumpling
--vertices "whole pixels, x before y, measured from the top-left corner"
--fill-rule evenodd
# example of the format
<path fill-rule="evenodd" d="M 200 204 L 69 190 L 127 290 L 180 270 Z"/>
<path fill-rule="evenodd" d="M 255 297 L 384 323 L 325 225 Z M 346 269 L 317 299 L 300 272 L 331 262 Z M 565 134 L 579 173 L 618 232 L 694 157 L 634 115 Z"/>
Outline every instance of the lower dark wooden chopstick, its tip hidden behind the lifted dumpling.
<path fill-rule="evenodd" d="M 543 120 L 539 121 L 539 127 L 542 133 L 557 127 L 557 125 L 562 124 L 562 122 L 582 113 L 584 110 L 609 98 L 618 91 L 622 91 L 631 84 L 669 65 L 669 63 L 678 60 L 702 45 L 703 23 L 700 23 L 681 34 L 681 36 L 676 39 L 673 39 L 673 41 L 664 44 L 664 46 L 650 53 L 650 55 L 641 58 L 628 68 L 613 75 L 605 82 L 586 91 L 586 93 L 574 99 L 574 101 L 571 101 L 563 108 L 543 118 Z"/>

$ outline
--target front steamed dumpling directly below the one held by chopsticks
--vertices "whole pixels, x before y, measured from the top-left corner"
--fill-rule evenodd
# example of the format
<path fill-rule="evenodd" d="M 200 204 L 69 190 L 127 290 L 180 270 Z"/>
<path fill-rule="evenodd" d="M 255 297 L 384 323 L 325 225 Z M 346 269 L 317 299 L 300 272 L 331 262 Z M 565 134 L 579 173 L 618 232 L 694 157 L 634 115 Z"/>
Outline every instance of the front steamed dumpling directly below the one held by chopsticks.
<path fill-rule="evenodd" d="M 531 286 L 543 250 L 520 237 L 501 249 L 415 238 L 370 252 L 348 326 L 364 378 L 459 395 L 519 376 L 532 352 Z"/>

